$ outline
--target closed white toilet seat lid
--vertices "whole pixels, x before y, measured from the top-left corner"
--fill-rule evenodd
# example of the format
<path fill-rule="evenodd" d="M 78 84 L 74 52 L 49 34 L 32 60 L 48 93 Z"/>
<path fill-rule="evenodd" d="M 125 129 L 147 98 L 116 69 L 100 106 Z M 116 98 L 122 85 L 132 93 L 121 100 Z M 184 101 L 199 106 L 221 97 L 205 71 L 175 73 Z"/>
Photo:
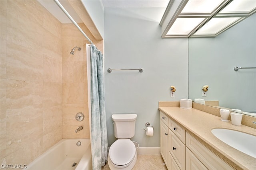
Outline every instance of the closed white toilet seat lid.
<path fill-rule="evenodd" d="M 109 158 L 114 166 L 129 166 L 136 155 L 136 148 L 130 139 L 118 139 L 109 149 Z"/>

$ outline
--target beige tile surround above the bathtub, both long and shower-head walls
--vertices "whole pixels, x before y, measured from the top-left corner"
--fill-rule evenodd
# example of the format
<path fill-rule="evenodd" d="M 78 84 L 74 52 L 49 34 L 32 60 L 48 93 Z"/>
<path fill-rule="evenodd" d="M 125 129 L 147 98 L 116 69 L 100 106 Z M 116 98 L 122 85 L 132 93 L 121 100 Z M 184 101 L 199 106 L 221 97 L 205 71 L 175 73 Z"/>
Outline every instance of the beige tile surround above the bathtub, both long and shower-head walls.
<path fill-rule="evenodd" d="M 62 138 L 90 137 L 87 41 L 36 0 L 0 0 L 0 13 L 0 163 L 29 164 Z M 75 46 L 82 50 L 70 55 Z"/>

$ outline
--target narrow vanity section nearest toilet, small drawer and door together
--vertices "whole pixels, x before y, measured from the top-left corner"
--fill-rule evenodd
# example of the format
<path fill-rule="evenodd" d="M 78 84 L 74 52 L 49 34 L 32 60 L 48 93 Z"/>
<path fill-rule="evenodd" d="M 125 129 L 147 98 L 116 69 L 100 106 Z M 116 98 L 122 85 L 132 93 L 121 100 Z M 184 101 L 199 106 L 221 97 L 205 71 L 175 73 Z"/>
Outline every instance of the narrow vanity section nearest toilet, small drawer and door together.
<path fill-rule="evenodd" d="M 160 112 L 160 153 L 169 167 L 169 117 Z"/>

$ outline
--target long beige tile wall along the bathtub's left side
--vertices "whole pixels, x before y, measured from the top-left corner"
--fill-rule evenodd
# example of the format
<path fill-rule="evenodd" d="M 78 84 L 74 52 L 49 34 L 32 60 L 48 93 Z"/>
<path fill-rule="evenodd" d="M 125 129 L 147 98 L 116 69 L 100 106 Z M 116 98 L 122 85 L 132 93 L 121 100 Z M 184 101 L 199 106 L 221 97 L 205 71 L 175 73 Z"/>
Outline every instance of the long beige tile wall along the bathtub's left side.
<path fill-rule="evenodd" d="M 0 161 L 28 164 L 62 139 L 62 24 L 37 1 L 0 3 Z"/>

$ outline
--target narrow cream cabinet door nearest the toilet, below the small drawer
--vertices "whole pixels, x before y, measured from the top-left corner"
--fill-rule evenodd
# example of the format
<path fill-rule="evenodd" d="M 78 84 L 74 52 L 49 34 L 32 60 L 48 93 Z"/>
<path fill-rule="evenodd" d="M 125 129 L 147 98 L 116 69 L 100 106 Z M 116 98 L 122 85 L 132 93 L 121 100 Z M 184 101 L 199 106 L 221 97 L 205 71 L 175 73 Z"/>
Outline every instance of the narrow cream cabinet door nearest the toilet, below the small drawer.
<path fill-rule="evenodd" d="M 166 164 L 169 167 L 169 128 L 160 121 L 160 152 Z"/>

